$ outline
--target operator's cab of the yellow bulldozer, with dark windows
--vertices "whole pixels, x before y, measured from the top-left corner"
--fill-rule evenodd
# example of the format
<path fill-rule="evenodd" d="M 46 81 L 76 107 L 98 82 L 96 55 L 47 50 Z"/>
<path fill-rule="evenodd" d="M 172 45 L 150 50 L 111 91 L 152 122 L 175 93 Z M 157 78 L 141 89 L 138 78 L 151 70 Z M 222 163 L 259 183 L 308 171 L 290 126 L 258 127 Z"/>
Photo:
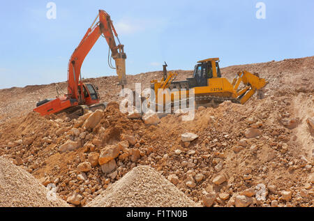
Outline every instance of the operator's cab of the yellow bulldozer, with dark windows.
<path fill-rule="evenodd" d="M 197 62 L 193 74 L 197 86 L 208 86 L 208 79 L 221 77 L 218 61 L 219 59 L 207 59 Z"/>

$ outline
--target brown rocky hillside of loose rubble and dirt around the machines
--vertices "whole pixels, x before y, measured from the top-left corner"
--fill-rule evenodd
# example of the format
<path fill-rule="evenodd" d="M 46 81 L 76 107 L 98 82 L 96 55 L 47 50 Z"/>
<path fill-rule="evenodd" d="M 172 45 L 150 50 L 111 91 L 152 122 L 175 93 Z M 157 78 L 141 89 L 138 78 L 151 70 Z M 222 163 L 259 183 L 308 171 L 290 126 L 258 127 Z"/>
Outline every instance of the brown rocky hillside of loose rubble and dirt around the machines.
<path fill-rule="evenodd" d="M 156 125 L 119 111 L 117 77 L 87 79 L 111 103 L 79 119 L 31 112 L 38 100 L 56 96 L 56 84 L 0 90 L 0 155 L 43 185 L 53 183 L 70 206 L 108 206 L 100 205 L 102 198 L 140 205 L 119 203 L 118 191 L 118 182 L 128 183 L 133 176 L 126 174 L 140 165 L 154 168 L 195 205 L 313 206 L 314 57 L 232 66 L 222 74 L 231 81 L 240 70 L 267 79 L 264 99 L 198 107 L 193 121 L 153 116 Z M 178 79 L 192 75 L 177 73 Z M 140 82 L 144 89 L 161 76 L 128 75 L 129 87 Z M 58 86 L 66 90 L 66 83 Z M 170 189 L 156 192 L 176 192 Z M 110 198 L 109 190 L 117 194 Z M 188 200 L 184 205 L 193 206 Z"/>

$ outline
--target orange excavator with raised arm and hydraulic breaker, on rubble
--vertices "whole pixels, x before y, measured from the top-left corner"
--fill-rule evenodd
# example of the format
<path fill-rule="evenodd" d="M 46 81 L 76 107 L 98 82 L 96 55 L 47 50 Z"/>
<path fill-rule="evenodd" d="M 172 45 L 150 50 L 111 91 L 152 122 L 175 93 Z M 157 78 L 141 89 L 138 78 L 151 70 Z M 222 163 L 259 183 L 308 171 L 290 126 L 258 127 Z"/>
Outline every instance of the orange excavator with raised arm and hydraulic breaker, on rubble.
<path fill-rule="evenodd" d="M 96 22 L 98 18 L 99 21 Z M 40 113 L 42 116 L 61 112 L 66 112 L 70 116 L 80 116 L 84 114 L 84 109 L 91 109 L 92 111 L 105 109 L 105 103 L 100 103 L 98 87 L 91 83 L 83 83 L 81 77 L 82 63 L 100 36 L 106 39 L 111 51 L 111 58 L 114 59 L 116 67 L 112 66 L 110 51 L 108 52 L 108 64 L 110 68 L 117 70 L 119 84 L 124 88 L 124 85 L 126 85 L 124 45 L 120 43 L 112 20 L 110 20 L 110 15 L 105 10 L 99 10 L 99 14 L 68 62 L 68 93 L 63 96 L 59 96 L 58 93 L 55 99 L 45 99 L 38 102 L 33 111 Z M 116 44 L 114 36 L 117 38 L 119 45 Z"/>

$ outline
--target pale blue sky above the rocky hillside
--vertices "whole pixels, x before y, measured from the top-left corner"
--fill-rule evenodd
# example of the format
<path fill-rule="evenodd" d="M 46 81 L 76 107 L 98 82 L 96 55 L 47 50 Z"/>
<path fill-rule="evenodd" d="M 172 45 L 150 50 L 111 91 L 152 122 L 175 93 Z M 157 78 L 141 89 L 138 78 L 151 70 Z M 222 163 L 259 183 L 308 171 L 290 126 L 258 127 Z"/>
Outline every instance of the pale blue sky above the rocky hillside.
<path fill-rule="evenodd" d="M 192 70 L 220 57 L 220 66 L 314 55 L 314 1 L 272 0 L 257 20 L 253 0 L 72 1 L 0 0 L 0 89 L 67 79 L 68 59 L 98 13 L 106 10 L 125 45 L 128 74 Z M 104 38 L 91 49 L 82 76 L 116 75 L 107 65 Z"/>

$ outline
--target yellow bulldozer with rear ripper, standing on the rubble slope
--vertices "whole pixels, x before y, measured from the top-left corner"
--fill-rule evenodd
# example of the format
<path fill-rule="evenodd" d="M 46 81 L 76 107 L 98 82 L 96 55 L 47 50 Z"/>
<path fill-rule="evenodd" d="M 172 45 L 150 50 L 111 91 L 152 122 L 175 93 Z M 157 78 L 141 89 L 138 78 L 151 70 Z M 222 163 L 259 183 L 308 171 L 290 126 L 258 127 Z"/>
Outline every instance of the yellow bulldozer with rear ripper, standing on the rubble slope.
<path fill-rule="evenodd" d="M 218 58 L 198 61 L 193 77 L 180 82 L 174 82 L 178 74 L 167 73 L 167 64 L 165 63 L 163 79 L 151 81 L 151 89 L 154 90 L 156 96 L 156 105 L 164 105 L 169 102 L 170 98 L 171 102 L 188 99 L 190 89 L 194 89 L 195 103 L 198 106 L 216 105 L 225 100 L 244 104 L 257 90 L 267 84 L 265 79 L 246 70 L 237 73 L 230 83 L 226 78 L 221 77 L 218 62 Z M 244 85 L 239 89 L 241 82 Z M 164 93 L 167 89 L 171 91 L 168 97 Z M 163 99 L 160 99 L 160 96 L 163 96 Z"/>

